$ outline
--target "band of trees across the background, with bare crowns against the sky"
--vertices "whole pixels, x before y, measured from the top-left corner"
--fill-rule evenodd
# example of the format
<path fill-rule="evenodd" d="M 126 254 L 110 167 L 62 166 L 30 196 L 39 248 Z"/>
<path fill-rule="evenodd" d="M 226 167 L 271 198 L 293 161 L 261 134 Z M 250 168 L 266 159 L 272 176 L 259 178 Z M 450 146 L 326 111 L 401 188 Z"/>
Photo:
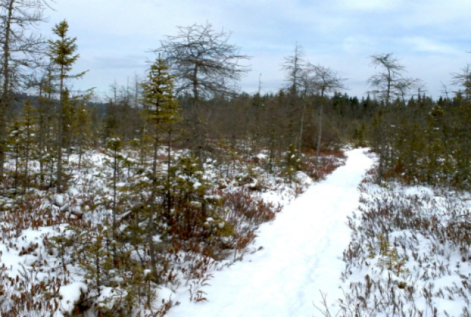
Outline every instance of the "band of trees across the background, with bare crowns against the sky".
<path fill-rule="evenodd" d="M 7 157 L 41 157 L 42 173 L 56 170 L 57 179 L 50 179 L 54 185 L 61 183 L 64 154 L 103 146 L 109 138 L 145 146 L 149 125 L 143 111 L 151 105 L 143 94 L 153 74 L 135 78 L 131 86 L 111 83 L 106 102 L 93 102 L 93 91 L 69 91 L 74 78 L 87 75 L 70 73 L 79 58 L 76 38 L 69 36 L 73 30 L 69 32 L 66 21 L 54 28 L 56 40 L 29 34 L 28 25 L 43 21 L 39 3 L 23 3 L 29 11 L 18 11 L 14 18 L 8 12 L 16 14 L 19 7 L 2 7 L 3 23 L 10 28 L 2 31 L 0 175 L 6 176 Z M 311 64 L 296 45 L 281 61 L 285 86 L 277 93 L 249 95 L 237 89 L 237 81 L 249 71 L 243 66 L 248 56 L 228 40 L 229 34 L 207 23 L 179 27 L 177 35 L 167 36 L 155 49 L 157 62 L 169 67 L 182 110 L 174 145 L 195 150 L 200 167 L 217 143 L 242 144 L 248 156 L 265 149 L 270 164 L 290 147 L 300 154 L 353 144 L 380 154 L 380 178 L 468 186 L 468 66 L 450 69 L 458 71 L 453 84 L 461 90 L 444 86 L 444 96 L 432 100 L 424 93 L 424 82 L 404 76 L 399 58 L 376 54 L 370 56 L 373 75 L 367 97 L 358 99 L 347 95 L 336 70 Z M 34 150 L 20 153 L 15 143 L 30 143 Z"/>

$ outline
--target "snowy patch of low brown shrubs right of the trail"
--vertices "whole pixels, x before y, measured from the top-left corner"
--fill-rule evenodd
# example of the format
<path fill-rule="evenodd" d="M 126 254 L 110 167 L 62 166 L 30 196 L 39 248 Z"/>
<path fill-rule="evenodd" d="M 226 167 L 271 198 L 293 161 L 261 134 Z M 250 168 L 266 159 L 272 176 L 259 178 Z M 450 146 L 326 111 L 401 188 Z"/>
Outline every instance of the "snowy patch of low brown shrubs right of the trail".
<path fill-rule="evenodd" d="M 348 224 L 344 297 L 324 316 L 469 316 L 469 195 L 363 183 Z"/>

